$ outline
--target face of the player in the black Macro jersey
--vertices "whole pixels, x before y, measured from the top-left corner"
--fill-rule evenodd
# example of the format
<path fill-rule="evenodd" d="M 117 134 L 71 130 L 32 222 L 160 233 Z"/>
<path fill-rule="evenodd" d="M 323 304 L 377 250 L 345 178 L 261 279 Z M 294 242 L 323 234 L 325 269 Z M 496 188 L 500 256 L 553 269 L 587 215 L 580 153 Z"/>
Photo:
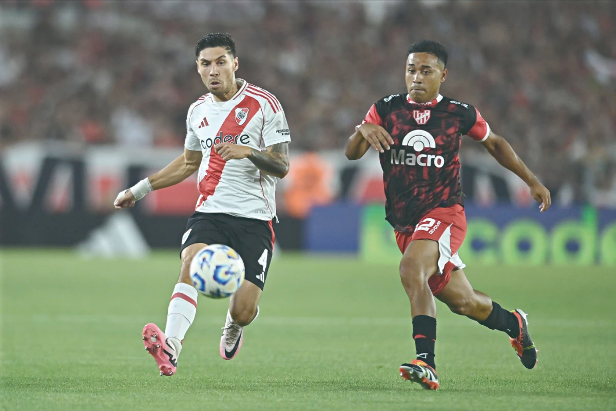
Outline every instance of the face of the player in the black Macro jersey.
<path fill-rule="evenodd" d="M 418 103 L 429 102 L 439 95 L 440 84 L 447 78 L 447 68 L 436 55 L 411 53 L 405 76 L 408 94 Z"/>

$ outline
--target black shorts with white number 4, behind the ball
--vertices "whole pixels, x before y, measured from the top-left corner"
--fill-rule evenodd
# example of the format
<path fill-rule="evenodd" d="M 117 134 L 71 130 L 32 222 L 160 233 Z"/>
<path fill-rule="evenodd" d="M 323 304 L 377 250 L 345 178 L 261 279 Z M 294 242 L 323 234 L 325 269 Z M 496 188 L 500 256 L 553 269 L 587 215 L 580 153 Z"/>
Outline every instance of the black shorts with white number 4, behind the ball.
<path fill-rule="evenodd" d="M 186 229 L 180 256 L 191 244 L 228 245 L 244 261 L 245 279 L 263 290 L 276 238 L 272 221 L 197 212 L 188 218 Z"/>

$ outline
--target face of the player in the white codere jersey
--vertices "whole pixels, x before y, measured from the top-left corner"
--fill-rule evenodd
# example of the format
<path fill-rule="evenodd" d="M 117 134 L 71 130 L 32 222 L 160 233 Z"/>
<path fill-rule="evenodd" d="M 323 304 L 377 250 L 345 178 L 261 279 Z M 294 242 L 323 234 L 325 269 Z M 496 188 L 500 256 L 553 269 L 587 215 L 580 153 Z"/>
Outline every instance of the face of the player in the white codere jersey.
<path fill-rule="evenodd" d="M 237 57 L 232 57 L 224 47 L 209 47 L 197 57 L 197 71 L 208 90 L 215 96 L 225 96 L 235 86 Z"/>

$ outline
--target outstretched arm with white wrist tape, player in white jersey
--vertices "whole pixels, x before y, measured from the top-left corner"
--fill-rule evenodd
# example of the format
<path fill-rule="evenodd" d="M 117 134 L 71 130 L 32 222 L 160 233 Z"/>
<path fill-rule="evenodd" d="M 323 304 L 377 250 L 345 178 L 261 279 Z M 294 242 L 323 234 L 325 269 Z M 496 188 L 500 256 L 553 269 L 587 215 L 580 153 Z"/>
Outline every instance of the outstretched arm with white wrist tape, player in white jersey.
<path fill-rule="evenodd" d="M 128 190 L 121 191 L 113 202 L 113 206 L 116 210 L 132 207 L 135 201 L 140 200 L 150 191 L 164 189 L 184 181 L 199 169 L 201 158 L 203 154 L 200 151 L 184 149 L 184 154 L 171 161 L 158 173 L 143 179 Z"/>

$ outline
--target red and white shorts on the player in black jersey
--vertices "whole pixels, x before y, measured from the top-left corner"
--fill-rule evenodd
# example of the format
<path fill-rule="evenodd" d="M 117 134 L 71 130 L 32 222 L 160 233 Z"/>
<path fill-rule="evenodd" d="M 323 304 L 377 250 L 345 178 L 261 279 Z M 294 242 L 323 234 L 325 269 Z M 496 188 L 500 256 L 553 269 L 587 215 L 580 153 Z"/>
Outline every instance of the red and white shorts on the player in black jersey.
<path fill-rule="evenodd" d="M 454 268 L 466 267 L 458 256 L 458 248 L 466 237 L 466 214 L 464 207 L 434 208 L 421 218 L 412 233 L 395 232 L 398 248 L 404 253 L 413 240 L 434 240 L 439 243 L 439 271 L 428 279 L 432 294 L 437 295 L 452 277 Z"/>

